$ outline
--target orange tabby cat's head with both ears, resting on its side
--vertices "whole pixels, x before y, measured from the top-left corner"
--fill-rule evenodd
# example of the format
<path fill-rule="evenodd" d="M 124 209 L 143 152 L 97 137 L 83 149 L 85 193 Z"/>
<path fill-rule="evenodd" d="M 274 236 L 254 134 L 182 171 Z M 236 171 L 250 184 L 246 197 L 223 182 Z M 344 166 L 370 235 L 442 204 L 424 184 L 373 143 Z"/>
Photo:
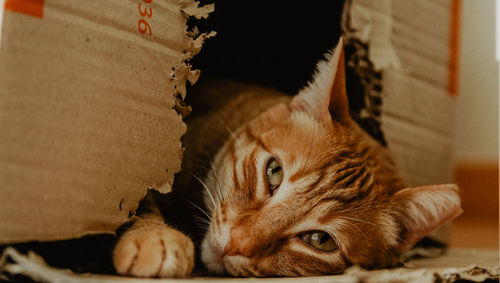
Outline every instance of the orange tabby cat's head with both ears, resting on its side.
<path fill-rule="evenodd" d="M 209 270 L 302 276 L 391 266 L 461 213 L 454 185 L 404 188 L 384 148 L 351 120 L 343 56 L 340 40 L 313 82 L 216 155 L 202 244 Z"/>

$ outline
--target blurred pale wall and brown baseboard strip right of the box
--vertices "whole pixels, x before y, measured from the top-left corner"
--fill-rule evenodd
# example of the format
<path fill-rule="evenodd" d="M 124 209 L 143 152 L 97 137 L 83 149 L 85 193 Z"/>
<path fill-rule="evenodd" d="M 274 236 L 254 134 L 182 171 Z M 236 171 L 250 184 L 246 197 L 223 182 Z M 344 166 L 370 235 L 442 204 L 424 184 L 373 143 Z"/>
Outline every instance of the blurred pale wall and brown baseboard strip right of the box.
<path fill-rule="evenodd" d="M 464 214 L 452 229 L 451 245 L 455 247 L 498 249 L 495 17 L 500 15 L 495 13 L 495 4 L 494 0 L 462 1 L 455 182 L 462 190 Z"/>

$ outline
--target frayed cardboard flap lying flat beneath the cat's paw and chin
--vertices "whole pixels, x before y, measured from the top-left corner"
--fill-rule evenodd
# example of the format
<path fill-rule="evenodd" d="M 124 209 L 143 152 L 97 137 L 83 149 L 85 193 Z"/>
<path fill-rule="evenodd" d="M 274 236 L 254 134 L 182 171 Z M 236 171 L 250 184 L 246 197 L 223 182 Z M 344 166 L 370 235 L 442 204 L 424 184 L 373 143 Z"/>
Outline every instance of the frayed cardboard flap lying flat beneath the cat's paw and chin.
<path fill-rule="evenodd" d="M 12 260 L 7 261 L 7 258 Z M 473 264 L 475 263 L 475 264 Z M 480 264 L 481 266 L 479 266 Z M 27 256 L 12 248 L 5 250 L 0 258 L 0 276 L 23 274 L 41 282 L 455 282 L 461 279 L 483 282 L 498 280 L 500 267 L 498 251 L 451 250 L 448 254 L 434 259 L 413 260 L 406 268 L 367 271 L 357 266 L 346 270 L 342 275 L 296 277 L 296 278 L 221 278 L 195 277 L 189 279 L 140 279 L 120 276 L 75 274 L 48 266 L 34 253 Z M 0 277 L 1 278 L 1 277 Z M 470 282 L 468 281 L 468 282 Z M 463 281 L 462 281 L 463 282 Z"/>

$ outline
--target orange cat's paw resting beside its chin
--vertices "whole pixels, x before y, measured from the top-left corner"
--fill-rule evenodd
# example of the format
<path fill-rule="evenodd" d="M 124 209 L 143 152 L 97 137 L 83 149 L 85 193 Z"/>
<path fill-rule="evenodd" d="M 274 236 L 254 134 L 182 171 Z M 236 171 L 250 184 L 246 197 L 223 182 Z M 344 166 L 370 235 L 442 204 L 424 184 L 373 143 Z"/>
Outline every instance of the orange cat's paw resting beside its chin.
<path fill-rule="evenodd" d="M 113 251 L 113 264 L 122 275 L 187 277 L 194 266 L 194 245 L 169 227 L 128 231 Z"/>

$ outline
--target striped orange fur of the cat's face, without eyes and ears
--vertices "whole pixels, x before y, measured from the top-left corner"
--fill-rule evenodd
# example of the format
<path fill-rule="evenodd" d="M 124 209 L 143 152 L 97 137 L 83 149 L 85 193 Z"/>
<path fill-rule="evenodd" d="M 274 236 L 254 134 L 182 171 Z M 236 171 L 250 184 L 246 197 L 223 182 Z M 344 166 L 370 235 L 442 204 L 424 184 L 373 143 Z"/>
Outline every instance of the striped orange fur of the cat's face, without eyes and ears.
<path fill-rule="evenodd" d="M 271 156 L 281 160 L 285 174 L 272 197 L 264 174 Z M 320 124 L 277 105 L 240 128 L 213 166 L 207 184 L 220 183 L 224 200 L 215 207 L 206 202 L 214 219 L 202 246 L 209 269 L 318 275 L 397 260 L 397 224 L 382 215 L 383 204 L 403 185 L 383 148 L 355 124 Z M 318 252 L 296 238 L 310 230 L 335 235 L 340 249 Z M 238 242 L 241 255 L 218 261 L 230 241 Z"/>

